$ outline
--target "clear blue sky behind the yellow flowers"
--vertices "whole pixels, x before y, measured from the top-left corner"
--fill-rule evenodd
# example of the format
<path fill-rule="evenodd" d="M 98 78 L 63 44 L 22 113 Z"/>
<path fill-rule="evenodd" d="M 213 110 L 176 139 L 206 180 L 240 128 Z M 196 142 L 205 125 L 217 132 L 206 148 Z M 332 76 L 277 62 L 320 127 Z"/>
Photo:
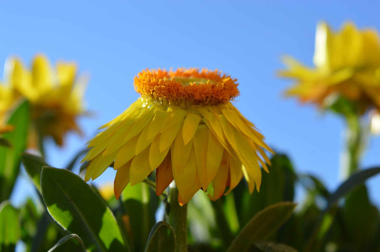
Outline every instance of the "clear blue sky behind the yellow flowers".
<path fill-rule="evenodd" d="M 334 29 L 351 20 L 380 29 L 375 1 L 1 1 L 0 64 L 18 56 L 24 64 L 36 53 L 52 63 L 76 61 L 90 75 L 88 110 L 78 122 L 85 135 L 70 133 L 59 148 L 47 140 L 47 160 L 64 167 L 86 146 L 97 128 L 124 111 L 139 95 L 133 78 L 146 68 L 206 67 L 237 78 L 234 104 L 296 170 L 337 188 L 344 122 L 312 105 L 285 99 L 291 80 L 276 77 L 282 55 L 312 66 L 315 26 Z M 363 167 L 380 165 L 380 138 L 372 136 Z M 33 191 L 26 175 L 12 199 Z M 108 169 L 95 180 L 113 182 Z M 380 176 L 369 180 L 370 197 L 380 205 Z"/>

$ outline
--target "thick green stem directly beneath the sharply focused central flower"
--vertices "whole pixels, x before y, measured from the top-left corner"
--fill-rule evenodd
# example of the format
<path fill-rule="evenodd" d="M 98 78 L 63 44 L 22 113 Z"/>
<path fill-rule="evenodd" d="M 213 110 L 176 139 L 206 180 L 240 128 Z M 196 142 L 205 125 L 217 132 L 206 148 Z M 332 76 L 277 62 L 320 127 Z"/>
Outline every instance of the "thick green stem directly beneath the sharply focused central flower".
<path fill-rule="evenodd" d="M 178 203 L 178 189 L 174 182 L 169 186 L 169 214 L 165 216 L 176 233 L 176 252 L 187 252 L 187 204 Z"/>

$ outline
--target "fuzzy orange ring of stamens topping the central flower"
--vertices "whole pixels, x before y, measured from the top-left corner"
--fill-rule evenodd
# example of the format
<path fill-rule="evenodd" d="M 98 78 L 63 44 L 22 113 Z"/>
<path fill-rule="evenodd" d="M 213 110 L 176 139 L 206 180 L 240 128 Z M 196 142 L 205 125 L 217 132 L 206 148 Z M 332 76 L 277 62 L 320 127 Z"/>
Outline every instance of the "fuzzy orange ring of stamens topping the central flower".
<path fill-rule="evenodd" d="M 174 80 L 176 78 L 177 80 Z M 182 83 L 179 78 L 201 78 L 207 83 Z M 165 69 L 143 70 L 134 79 L 135 89 L 142 96 L 169 102 L 191 101 L 192 104 L 225 103 L 239 95 L 236 79 L 221 71 L 197 68 L 180 68 L 176 71 Z M 186 85 L 184 85 L 186 84 Z"/>

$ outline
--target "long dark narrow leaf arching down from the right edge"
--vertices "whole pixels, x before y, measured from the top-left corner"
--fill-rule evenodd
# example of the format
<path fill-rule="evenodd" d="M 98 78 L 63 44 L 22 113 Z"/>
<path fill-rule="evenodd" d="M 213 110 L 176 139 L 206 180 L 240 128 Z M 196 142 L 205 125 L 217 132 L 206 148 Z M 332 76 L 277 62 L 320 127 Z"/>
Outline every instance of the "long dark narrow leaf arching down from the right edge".
<path fill-rule="evenodd" d="M 330 196 L 325 210 L 318 217 L 314 231 L 308 239 L 305 252 L 319 251 L 323 245 L 324 239 L 331 228 L 332 221 L 337 211 L 338 200 L 350 193 L 353 189 L 361 185 L 367 178 L 370 178 L 380 172 L 380 167 L 365 169 L 352 174 L 339 188 Z"/>

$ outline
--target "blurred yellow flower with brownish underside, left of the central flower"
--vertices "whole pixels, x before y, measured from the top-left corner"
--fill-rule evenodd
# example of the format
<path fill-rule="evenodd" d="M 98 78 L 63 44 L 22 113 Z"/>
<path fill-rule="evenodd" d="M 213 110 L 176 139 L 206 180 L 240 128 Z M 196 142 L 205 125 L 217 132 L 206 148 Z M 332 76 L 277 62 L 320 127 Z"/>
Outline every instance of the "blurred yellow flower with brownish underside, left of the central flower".
<path fill-rule="evenodd" d="M 36 147 L 38 134 L 52 136 L 62 146 L 67 131 L 80 133 L 75 119 L 84 113 L 84 85 L 76 82 L 76 64 L 59 62 L 52 69 L 45 56 L 37 55 L 31 70 L 16 58 L 10 59 L 5 69 L 15 96 L 25 97 L 32 107 L 29 147 Z"/>

